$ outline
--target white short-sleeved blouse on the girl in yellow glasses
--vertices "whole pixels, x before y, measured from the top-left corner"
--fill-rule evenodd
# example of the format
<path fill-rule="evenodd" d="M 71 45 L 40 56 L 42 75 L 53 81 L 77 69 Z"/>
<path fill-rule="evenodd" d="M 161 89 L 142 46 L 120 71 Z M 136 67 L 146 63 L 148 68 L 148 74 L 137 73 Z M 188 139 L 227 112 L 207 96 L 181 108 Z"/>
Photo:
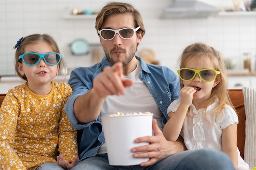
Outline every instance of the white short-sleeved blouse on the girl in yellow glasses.
<path fill-rule="evenodd" d="M 175 112 L 180 106 L 180 99 L 173 101 L 167 109 L 167 112 Z M 204 119 L 203 112 L 205 109 L 197 110 L 193 104 L 190 106 L 189 116 L 184 119 L 180 135 L 184 139 L 184 143 L 188 150 L 200 148 L 212 148 L 222 151 L 222 129 L 227 128 L 231 124 L 238 124 L 238 116 L 233 108 L 226 106 L 221 117 L 210 114 L 211 110 L 216 108 L 216 103 L 207 107 L 207 121 Z M 210 122 L 210 123 L 209 123 Z M 237 149 L 238 150 L 238 149 Z M 238 150 L 238 167 L 249 169 L 249 165 L 245 163 L 240 156 Z"/>

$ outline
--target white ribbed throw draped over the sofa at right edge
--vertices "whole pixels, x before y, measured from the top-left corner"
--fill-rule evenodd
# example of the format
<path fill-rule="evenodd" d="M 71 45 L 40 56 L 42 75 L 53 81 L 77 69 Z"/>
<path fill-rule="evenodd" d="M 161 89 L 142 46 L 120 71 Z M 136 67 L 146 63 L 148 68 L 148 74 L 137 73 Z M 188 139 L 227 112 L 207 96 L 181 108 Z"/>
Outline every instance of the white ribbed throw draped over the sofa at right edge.
<path fill-rule="evenodd" d="M 256 88 L 243 87 L 245 100 L 245 155 L 249 168 L 256 167 Z"/>

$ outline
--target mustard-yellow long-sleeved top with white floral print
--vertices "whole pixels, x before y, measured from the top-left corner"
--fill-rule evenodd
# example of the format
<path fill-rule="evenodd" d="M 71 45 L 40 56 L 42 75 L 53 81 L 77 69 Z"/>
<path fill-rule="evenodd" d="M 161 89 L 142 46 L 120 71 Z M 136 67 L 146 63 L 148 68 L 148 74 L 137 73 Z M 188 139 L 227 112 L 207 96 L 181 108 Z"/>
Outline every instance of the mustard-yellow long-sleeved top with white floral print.
<path fill-rule="evenodd" d="M 27 83 L 10 89 L 0 108 L 0 169 L 35 170 L 57 162 L 59 153 L 73 161 L 78 155 L 76 130 L 64 110 L 72 88 L 52 82 L 52 91 L 39 96 Z"/>

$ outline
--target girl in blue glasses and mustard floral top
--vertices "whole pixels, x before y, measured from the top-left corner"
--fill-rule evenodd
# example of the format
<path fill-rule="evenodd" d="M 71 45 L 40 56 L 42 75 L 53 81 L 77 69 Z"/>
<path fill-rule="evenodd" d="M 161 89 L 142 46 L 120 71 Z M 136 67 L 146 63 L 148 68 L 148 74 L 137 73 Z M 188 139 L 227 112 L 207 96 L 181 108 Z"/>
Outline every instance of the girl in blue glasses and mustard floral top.
<path fill-rule="evenodd" d="M 63 62 L 58 46 L 49 35 L 33 34 L 13 49 L 16 73 L 27 82 L 10 89 L 0 108 L 0 168 L 71 168 L 78 161 L 76 130 L 64 106 L 72 89 L 52 81 Z"/>

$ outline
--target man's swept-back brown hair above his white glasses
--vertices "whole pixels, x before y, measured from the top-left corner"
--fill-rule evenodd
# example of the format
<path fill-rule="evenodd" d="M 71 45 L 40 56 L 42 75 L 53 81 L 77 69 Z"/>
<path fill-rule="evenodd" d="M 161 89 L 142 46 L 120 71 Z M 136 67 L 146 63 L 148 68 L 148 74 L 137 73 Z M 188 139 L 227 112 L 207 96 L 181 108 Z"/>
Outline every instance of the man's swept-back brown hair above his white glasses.
<path fill-rule="evenodd" d="M 144 28 L 142 17 L 139 11 L 135 9 L 132 5 L 122 2 L 112 2 L 101 9 L 100 13 L 96 17 L 95 22 L 95 29 L 97 30 L 97 32 L 101 29 L 101 26 L 104 24 L 106 18 L 111 15 L 121 13 L 132 13 L 135 28 L 140 26 L 140 29 L 138 31 L 142 32 L 142 36 L 145 34 L 146 30 Z"/>

